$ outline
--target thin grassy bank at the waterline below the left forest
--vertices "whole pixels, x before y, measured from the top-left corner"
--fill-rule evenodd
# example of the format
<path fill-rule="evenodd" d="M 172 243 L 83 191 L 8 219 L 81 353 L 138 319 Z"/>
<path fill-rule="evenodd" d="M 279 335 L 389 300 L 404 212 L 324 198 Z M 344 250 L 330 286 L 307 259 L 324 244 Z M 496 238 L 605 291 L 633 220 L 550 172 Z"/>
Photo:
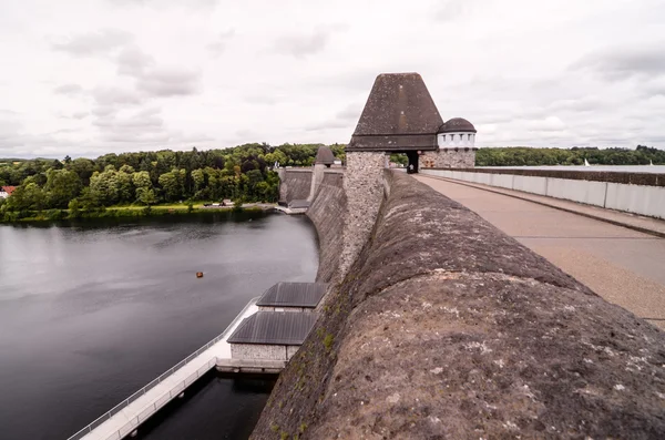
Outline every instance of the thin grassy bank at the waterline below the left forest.
<path fill-rule="evenodd" d="M 222 206 L 212 207 L 204 206 L 204 203 L 186 204 L 162 204 L 153 206 L 109 206 L 94 211 L 72 211 L 72 209 L 47 209 L 39 212 L 8 212 L 3 217 L 0 217 L 0 223 L 30 223 L 30 222 L 53 222 L 62 219 L 80 219 L 80 218 L 114 218 L 114 217 L 152 217 L 167 215 L 188 215 L 188 214 L 214 214 L 219 212 L 253 212 L 268 211 L 273 208 L 273 204 L 266 203 L 247 203 L 242 206 Z"/>

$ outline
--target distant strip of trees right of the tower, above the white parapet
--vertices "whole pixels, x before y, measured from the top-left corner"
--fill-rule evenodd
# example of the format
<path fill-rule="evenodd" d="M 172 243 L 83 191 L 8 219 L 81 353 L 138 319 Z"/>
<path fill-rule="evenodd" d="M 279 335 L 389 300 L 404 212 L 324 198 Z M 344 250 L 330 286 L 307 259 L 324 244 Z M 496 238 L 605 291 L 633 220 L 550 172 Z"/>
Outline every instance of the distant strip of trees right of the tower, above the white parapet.
<path fill-rule="evenodd" d="M 648 165 L 665 164 L 665 151 L 637 145 L 635 150 L 597 147 L 532 149 L 495 147 L 480 149 L 475 154 L 477 166 L 539 166 L 583 165 L 584 160 L 594 165 Z"/>

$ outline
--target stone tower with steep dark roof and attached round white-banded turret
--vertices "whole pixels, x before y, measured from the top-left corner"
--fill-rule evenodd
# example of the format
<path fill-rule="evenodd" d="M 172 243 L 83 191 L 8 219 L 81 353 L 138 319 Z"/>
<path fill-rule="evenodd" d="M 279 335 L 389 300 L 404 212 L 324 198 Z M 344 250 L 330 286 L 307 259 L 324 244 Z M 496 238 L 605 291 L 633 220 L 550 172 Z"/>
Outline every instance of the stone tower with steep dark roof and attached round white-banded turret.
<path fill-rule="evenodd" d="M 462 124 L 461 121 L 466 122 Z M 456 131 L 449 131 L 456 130 Z M 472 133 L 471 131 L 472 130 Z M 453 119 L 443 123 L 424 81 L 418 73 L 382 73 L 377 76 L 356 131 L 346 147 L 347 224 L 341 254 L 342 274 L 367 242 L 382 199 L 386 155 L 406 153 L 409 171 L 424 166 L 473 166 L 472 146 L 440 145 L 440 135 L 473 134 L 471 123 Z M 468 142 L 471 137 L 458 137 Z"/>

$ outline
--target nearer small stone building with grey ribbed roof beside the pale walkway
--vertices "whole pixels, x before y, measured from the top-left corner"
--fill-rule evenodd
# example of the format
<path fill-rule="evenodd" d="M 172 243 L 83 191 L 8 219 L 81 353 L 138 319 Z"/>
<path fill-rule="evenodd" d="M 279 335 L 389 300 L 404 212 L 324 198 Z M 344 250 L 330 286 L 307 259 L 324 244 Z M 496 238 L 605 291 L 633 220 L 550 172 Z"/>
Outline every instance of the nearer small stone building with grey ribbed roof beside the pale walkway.
<path fill-rule="evenodd" d="M 311 331 L 318 314 L 257 311 L 228 338 L 232 359 L 289 360 Z"/>

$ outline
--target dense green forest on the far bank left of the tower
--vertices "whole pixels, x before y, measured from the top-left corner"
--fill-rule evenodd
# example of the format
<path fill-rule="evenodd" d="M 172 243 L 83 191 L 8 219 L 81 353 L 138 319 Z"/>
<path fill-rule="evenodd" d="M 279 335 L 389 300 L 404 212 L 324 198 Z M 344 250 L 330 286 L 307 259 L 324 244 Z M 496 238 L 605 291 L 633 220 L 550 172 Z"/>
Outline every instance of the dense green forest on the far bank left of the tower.
<path fill-rule="evenodd" d="M 94 211 L 180 201 L 276 202 L 282 166 L 308 166 L 320 144 L 245 144 L 225 150 L 105 154 L 95 160 L 0 161 L 0 186 L 18 186 L 0 218 L 43 209 Z M 331 145 L 344 157 L 342 145 Z M 10 214 L 11 213 L 11 214 Z M 9 214 L 9 215 L 8 215 Z"/>

